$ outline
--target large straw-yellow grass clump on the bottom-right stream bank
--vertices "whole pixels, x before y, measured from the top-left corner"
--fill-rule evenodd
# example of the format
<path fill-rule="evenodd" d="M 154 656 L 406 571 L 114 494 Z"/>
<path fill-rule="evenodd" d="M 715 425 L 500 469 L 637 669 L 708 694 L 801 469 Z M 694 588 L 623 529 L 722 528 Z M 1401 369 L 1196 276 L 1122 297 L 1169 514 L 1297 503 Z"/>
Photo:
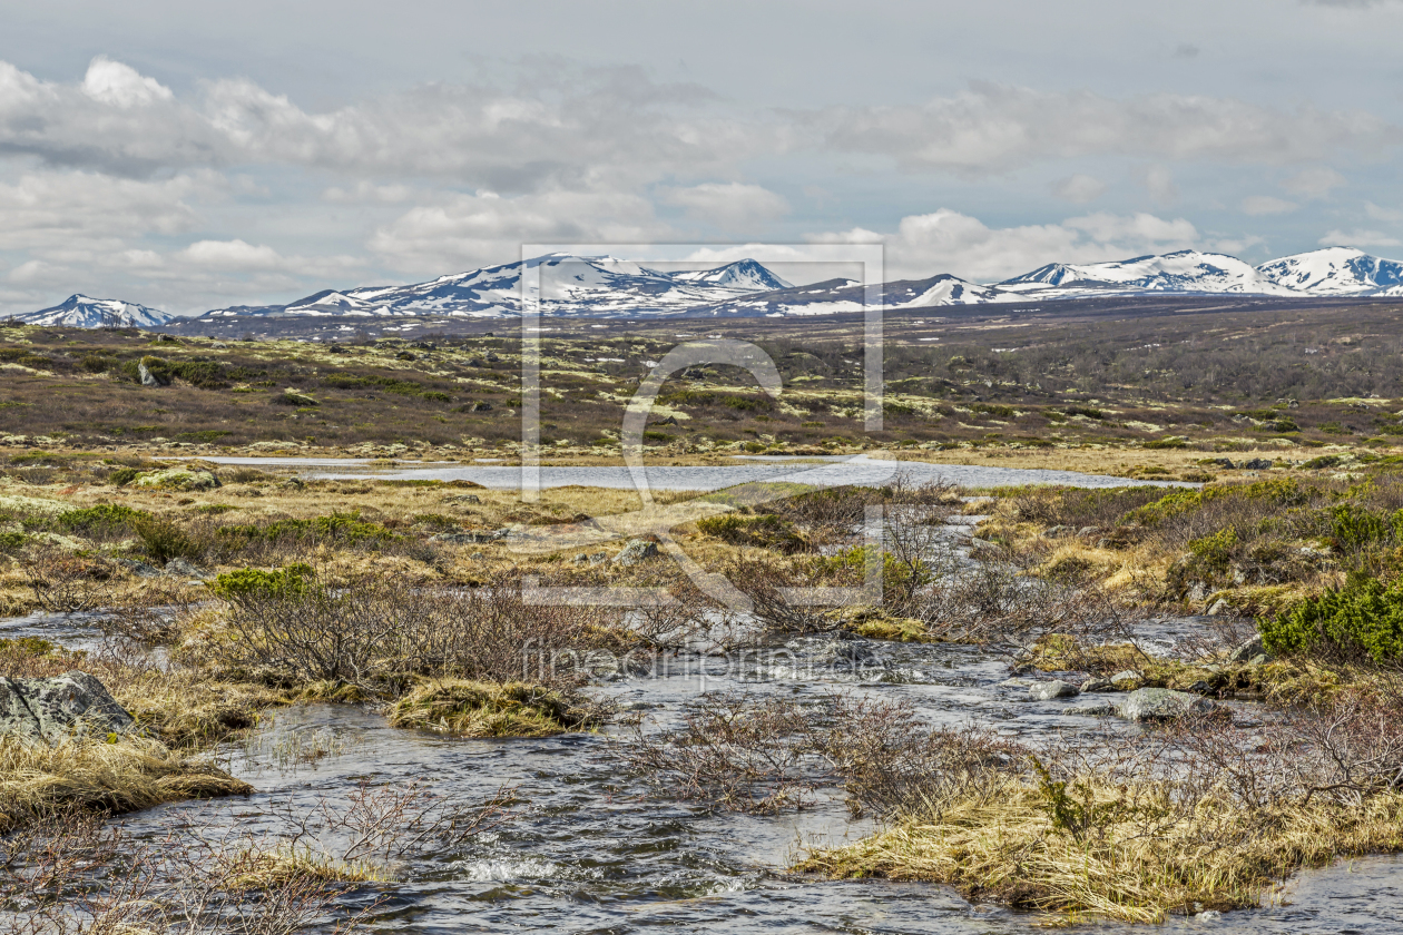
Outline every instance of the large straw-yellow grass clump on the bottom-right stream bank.
<path fill-rule="evenodd" d="M 1009 778 L 936 816 L 812 854 L 794 869 L 929 880 L 972 900 L 1156 922 L 1172 913 L 1256 906 L 1299 868 L 1403 849 L 1403 795 L 1396 792 L 1354 807 L 1316 800 L 1268 816 L 1204 800 L 1193 816 L 1145 835 L 1143 812 L 1172 810 L 1163 792 L 1094 779 L 1082 788 L 1082 807 L 1104 816 L 1094 833 L 1059 830 L 1047 791 Z M 1205 826 L 1215 838 L 1205 840 Z"/>

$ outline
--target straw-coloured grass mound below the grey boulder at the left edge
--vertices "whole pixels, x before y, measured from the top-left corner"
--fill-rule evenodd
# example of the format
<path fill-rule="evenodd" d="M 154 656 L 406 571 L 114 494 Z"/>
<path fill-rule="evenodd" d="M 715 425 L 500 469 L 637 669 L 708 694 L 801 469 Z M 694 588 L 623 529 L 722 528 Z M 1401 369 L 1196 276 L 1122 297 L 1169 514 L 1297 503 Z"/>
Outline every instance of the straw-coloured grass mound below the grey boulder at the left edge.
<path fill-rule="evenodd" d="M 247 782 L 147 737 L 0 740 L 0 831 L 72 806 L 121 813 L 250 792 Z"/>

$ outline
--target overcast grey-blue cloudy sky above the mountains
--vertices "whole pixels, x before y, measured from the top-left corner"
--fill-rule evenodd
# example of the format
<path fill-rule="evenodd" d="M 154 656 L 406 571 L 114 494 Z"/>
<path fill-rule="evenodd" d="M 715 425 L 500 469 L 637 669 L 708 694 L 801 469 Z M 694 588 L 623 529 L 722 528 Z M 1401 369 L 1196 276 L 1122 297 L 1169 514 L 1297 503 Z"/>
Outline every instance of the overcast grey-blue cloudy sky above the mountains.
<path fill-rule="evenodd" d="M 4 3 L 0 314 L 191 314 L 522 243 L 996 280 L 1403 257 L 1393 0 Z"/>

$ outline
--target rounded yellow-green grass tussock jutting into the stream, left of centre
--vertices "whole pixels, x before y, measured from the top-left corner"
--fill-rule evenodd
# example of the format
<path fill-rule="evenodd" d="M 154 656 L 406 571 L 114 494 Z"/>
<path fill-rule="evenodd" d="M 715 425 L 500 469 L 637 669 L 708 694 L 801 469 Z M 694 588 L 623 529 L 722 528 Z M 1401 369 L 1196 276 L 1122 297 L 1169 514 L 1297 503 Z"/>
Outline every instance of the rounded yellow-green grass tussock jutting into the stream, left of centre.
<path fill-rule="evenodd" d="M 592 721 L 577 699 L 560 691 L 463 678 L 425 681 L 390 705 L 389 718 L 396 728 L 463 737 L 549 737 L 581 730 Z"/>

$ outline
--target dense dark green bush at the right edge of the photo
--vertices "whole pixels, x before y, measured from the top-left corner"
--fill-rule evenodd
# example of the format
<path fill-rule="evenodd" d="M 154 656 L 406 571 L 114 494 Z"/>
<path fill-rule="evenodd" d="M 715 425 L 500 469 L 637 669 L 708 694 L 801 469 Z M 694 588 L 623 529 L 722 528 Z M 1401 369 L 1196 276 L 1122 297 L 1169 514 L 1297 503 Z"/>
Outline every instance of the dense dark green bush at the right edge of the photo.
<path fill-rule="evenodd" d="M 1374 662 L 1396 660 L 1403 656 L 1403 585 L 1371 578 L 1305 600 L 1258 628 L 1273 653 L 1364 652 Z"/>

